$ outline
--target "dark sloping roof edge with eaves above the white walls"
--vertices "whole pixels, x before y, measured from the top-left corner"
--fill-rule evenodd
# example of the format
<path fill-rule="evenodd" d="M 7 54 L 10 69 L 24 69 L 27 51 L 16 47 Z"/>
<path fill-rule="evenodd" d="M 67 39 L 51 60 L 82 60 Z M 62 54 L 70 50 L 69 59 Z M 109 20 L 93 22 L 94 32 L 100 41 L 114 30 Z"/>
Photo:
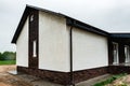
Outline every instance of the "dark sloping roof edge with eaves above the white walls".
<path fill-rule="evenodd" d="M 29 12 L 31 10 L 34 10 L 34 9 L 38 10 L 38 11 L 43 11 L 43 12 L 47 12 L 47 13 L 51 13 L 51 14 L 54 14 L 54 15 L 57 15 L 57 16 L 63 16 L 63 17 L 66 18 L 66 22 L 67 22 L 66 24 L 68 26 L 74 26 L 74 27 L 77 27 L 77 28 L 80 28 L 80 29 L 83 29 L 83 30 L 87 30 L 87 31 L 90 31 L 90 32 L 94 32 L 94 33 L 98 33 L 98 34 L 101 34 L 101 35 L 105 35 L 105 37 L 109 35 L 109 33 L 106 32 L 106 31 L 103 31 L 103 30 L 101 30 L 99 28 L 95 28 L 95 27 L 93 27 L 91 25 L 79 22 L 79 20 L 77 20 L 75 18 L 72 18 L 72 17 L 67 16 L 67 15 L 56 13 L 56 12 L 52 12 L 52 11 L 48 11 L 48 10 L 37 8 L 37 6 L 32 6 L 32 5 L 26 5 L 25 11 L 23 13 L 23 16 L 22 16 L 22 18 L 20 20 L 20 24 L 17 26 L 17 29 L 15 31 L 15 34 L 13 37 L 12 43 L 16 43 L 16 41 L 18 39 L 18 35 L 20 35 L 20 33 L 21 33 L 21 31 L 23 29 L 23 26 L 25 24 L 25 20 L 26 20 L 27 16 L 29 15 Z"/>

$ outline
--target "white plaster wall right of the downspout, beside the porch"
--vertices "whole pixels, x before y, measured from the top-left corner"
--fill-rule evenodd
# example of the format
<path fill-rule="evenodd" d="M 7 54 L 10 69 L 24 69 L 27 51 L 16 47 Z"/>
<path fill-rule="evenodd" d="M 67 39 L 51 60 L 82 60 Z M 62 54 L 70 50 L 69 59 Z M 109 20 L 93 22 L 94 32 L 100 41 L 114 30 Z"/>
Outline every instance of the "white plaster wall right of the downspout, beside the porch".
<path fill-rule="evenodd" d="M 73 29 L 74 71 L 108 66 L 107 38 Z"/>

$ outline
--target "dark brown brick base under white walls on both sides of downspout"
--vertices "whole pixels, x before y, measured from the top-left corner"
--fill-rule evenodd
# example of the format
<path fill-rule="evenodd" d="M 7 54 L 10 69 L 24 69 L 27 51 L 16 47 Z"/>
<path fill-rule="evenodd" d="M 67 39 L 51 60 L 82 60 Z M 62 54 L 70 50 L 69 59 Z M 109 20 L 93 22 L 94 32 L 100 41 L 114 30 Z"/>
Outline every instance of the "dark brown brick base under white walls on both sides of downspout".
<path fill-rule="evenodd" d="M 63 85 L 70 85 L 70 83 L 72 83 L 70 72 L 38 70 L 38 69 L 20 67 L 20 66 L 17 67 L 17 71 L 41 77 L 41 78 L 44 78 L 50 82 L 63 84 Z M 73 73 L 73 82 L 76 84 L 76 83 L 87 81 L 89 78 L 92 78 L 92 77 L 95 77 L 99 75 L 103 75 L 106 73 L 107 73 L 107 67 L 75 71 Z"/>

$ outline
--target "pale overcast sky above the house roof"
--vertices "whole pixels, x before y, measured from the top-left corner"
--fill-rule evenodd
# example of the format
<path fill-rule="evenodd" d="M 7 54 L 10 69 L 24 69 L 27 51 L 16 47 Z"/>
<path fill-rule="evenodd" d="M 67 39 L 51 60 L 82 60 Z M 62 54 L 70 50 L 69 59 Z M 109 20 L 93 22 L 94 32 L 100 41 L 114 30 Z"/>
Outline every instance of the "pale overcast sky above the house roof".
<path fill-rule="evenodd" d="M 0 0 L 0 52 L 15 52 L 11 40 L 26 4 L 79 19 L 107 32 L 130 32 L 130 0 Z"/>

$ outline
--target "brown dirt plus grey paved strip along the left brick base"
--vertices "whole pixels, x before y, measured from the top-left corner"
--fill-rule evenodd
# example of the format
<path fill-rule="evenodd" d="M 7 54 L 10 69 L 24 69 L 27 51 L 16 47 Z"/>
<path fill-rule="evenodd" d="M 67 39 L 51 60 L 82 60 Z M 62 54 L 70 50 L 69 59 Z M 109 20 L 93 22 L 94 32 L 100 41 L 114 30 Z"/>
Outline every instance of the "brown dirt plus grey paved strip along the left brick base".
<path fill-rule="evenodd" d="M 0 66 L 0 86 L 62 86 L 28 74 L 11 74 L 15 70 L 16 66 Z"/>

